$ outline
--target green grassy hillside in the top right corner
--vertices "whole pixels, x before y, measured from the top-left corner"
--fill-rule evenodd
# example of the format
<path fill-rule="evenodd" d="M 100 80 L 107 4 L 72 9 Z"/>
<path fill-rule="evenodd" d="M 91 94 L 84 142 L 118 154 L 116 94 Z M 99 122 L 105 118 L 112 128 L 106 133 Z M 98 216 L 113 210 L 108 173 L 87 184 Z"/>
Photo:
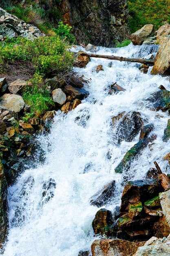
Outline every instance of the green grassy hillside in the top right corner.
<path fill-rule="evenodd" d="M 164 21 L 170 23 L 170 0 L 129 0 L 128 7 L 131 33 L 146 24 L 158 29 Z"/>

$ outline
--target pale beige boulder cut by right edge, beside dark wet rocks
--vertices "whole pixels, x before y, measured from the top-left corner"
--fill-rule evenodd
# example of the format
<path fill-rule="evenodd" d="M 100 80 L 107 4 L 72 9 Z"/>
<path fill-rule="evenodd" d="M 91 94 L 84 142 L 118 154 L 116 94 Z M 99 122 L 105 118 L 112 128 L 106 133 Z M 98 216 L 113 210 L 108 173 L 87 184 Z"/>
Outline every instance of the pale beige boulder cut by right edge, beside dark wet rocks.
<path fill-rule="evenodd" d="M 159 194 L 161 207 L 166 221 L 170 227 L 170 190 Z"/>

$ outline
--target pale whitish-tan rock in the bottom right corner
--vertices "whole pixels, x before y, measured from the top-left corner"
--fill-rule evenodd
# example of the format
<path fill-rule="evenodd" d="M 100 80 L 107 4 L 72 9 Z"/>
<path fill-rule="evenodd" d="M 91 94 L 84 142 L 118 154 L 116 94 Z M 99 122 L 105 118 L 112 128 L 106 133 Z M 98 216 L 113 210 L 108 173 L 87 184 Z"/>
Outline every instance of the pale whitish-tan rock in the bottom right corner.
<path fill-rule="evenodd" d="M 161 239 L 156 237 L 150 238 L 142 247 L 137 249 L 133 256 L 168 256 L 170 255 L 170 247 L 166 241 L 163 243 Z"/>

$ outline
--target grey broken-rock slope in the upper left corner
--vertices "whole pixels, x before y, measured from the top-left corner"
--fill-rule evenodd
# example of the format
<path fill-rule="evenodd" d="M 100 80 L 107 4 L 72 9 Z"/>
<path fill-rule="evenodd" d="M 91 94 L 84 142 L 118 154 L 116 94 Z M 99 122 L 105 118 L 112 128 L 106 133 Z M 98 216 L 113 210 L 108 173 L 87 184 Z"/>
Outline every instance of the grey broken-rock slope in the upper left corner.
<path fill-rule="evenodd" d="M 23 20 L 20 20 L 16 16 L 13 16 L 0 8 L 0 38 L 3 40 L 7 36 L 10 38 L 23 36 L 33 39 L 45 35 L 41 33 L 38 27 L 26 24 Z"/>

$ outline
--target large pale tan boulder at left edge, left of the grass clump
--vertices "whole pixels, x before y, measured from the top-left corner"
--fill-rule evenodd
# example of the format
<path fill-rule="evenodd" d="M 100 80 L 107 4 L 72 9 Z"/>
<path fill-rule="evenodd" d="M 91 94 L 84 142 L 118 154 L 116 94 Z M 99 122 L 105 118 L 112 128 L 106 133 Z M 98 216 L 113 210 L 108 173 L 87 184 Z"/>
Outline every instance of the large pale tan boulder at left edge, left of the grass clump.
<path fill-rule="evenodd" d="M 0 108 L 20 112 L 25 106 L 24 100 L 17 94 L 4 94 L 0 97 Z"/>

